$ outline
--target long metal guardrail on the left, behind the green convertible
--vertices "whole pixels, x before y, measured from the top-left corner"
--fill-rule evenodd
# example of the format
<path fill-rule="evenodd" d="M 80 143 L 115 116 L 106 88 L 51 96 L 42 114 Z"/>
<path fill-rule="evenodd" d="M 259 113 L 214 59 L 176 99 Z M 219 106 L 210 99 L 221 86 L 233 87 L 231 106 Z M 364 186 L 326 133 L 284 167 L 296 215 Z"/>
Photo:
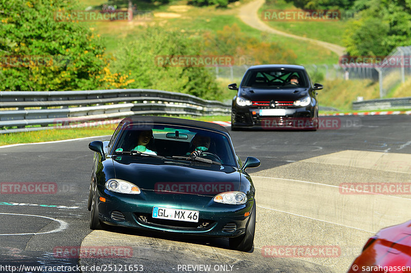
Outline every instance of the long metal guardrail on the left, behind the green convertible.
<path fill-rule="evenodd" d="M 66 128 L 65 125 L 70 123 L 134 114 L 202 116 L 230 113 L 230 104 L 152 89 L 0 92 L 0 128 L 4 128 L 0 133 L 3 134 Z"/>

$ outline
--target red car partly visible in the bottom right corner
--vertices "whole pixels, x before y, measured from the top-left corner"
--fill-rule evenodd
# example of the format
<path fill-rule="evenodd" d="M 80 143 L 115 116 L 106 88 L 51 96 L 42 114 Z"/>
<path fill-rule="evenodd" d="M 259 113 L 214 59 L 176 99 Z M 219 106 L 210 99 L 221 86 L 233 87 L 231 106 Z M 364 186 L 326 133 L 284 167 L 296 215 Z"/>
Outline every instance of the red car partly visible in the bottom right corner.
<path fill-rule="evenodd" d="M 411 221 L 386 227 L 368 239 L 348 273 L 411 272 Z"/>

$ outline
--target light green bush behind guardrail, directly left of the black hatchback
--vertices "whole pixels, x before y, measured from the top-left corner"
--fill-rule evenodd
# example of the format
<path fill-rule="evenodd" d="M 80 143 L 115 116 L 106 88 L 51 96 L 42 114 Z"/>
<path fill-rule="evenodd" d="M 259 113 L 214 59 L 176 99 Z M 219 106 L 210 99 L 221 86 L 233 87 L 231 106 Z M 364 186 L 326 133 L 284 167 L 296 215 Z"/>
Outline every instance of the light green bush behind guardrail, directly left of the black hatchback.
<path fill-rule="evenodd" d="M 201 55 L 194 40 L 179 31 L 158 26 L 142 29 L 135 40 L 119 49 L 113 71 L 127 72 L 134 82 L 128 88 L 158 89 L 218 99 L 215 76 L 204 67 L 169 66 L 162 59 Z"/>

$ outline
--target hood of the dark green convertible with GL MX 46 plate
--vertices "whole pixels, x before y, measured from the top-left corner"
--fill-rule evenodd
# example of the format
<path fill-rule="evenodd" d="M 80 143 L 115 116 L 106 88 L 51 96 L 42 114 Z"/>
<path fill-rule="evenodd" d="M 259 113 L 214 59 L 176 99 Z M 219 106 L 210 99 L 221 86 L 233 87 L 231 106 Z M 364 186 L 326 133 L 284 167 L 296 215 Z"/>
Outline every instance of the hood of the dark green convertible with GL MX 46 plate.
<path fill-rule="evenodd" d="M 112 160 L 116 178 L 141 190 L 214 196 L 240 188 L 240 173 L 231 166 L 131 156 Z"/>

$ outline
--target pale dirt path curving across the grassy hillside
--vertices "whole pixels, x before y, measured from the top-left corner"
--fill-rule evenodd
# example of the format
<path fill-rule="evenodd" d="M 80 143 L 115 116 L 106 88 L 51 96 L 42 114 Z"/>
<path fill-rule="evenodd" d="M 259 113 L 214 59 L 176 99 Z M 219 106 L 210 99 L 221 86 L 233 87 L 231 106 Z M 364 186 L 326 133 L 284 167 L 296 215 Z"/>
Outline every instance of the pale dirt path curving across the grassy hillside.
<path fill-rule="evenodd" d="M 242 6 L 239 10 L 239 13 L 238 13 L 238 16 L 240 17 L 242 22 L 246 23 L 247 25 L 249 25 L 252 28 L 255 28 L 255 29 L 258 29 L 258 30 L 261 30 L 261 31 L 265 31 L 265 32 L 268 32 L 268 33 L 283 35 L 283 36 L 286 36 L 286 37 L 305 40 L 305 41 L 310 41 L 311 43 L 322 46 L 324 48 L 327 48 L 327 49 L 331 50 L 332 52 L 337 53 L 338 56 L 342 56 L 345 53 L 346 49 L 342 46 L 327 43 L 325 41 L 320 41 L 320 40 L 311 39 L 311 38 L 307 38 L 307 37 L 297 36 L 297 35 L 294 35 L 294 34 L 279 31 L 279 30 L 276 30 L 276 29 L 273 29 L 273 28 L 269 27 L 268 25 L 263 23 L 263 21 L 261 21 L 259 15 L 258 15 L 258 9 L 264 4 L 264 2 L 265 2 L 265 0 L 255 0 L 255 1 L 252 1 L 252 2 Z"/>

